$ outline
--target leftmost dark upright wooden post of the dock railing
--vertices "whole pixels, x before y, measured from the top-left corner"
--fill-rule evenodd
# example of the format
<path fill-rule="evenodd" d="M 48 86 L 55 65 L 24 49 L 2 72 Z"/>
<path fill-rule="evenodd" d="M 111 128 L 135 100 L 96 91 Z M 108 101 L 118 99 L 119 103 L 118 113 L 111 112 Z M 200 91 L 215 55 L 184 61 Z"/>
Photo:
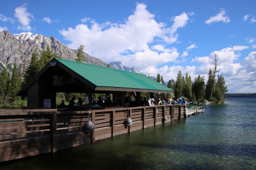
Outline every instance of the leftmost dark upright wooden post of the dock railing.
<path fill-rule="evenodd" d="M 53 111 L 51 114 L 51 123 L 50 123 L 50 130 L 51 130 L 51 152 L 57 152 L 57 139 L 56 139 L 56 134 L 57 134 L 57 114 L 56 111 Z"/>

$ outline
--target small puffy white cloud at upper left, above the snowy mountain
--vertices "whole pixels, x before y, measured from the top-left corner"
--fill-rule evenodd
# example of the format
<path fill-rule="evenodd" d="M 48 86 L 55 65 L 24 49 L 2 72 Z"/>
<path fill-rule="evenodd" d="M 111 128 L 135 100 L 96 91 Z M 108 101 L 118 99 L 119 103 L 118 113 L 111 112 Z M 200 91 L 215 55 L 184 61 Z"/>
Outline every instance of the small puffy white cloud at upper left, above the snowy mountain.
<path fill-rule="evenodd" d="M 32 14 L 27 13 L 27 8 L 25 7 L 26 5 L 27 3 L 22 6 L 16 7 L 14 14 L 14 16 L 18 18 L 19 23 L 22 24 L 22 26 L 28 26 L 31 19 L 34 19 Z"/>

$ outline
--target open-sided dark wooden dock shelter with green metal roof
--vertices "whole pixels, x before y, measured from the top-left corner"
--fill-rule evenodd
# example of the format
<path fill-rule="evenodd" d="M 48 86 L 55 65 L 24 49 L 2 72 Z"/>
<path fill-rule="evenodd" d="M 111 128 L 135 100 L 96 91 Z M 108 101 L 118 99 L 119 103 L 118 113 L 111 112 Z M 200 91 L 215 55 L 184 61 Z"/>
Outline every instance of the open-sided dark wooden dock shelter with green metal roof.
<path fill-rule="evenodd" d="M 144 74 L 77 61 L 53 58 L 17 96 L 27 97 L 27 107 L 56 109 L 56 93 L 86 93 L 84 110 L 93 109 L 92 94 L 113 94 L 113 107 L 123 107 L 125 93 L 174 93 Z M 95 108 L 96 109 L 96 108 Z"/>

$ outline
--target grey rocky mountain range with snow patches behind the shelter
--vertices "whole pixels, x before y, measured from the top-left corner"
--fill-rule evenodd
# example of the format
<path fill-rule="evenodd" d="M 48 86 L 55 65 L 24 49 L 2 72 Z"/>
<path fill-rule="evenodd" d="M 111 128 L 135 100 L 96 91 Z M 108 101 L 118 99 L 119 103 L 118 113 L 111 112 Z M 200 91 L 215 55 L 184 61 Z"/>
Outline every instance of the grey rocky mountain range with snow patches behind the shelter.
<path fill-rule="evenodd" d="M 29 63 L 32 53 L 37 49 L 39 57 L 43 49 L 47 49 L 47 45 L 51 48 L 52 53 L 57 53 L 67 60 L 75 60 L 77 57 L 77 50 L 69 49 L 66 45 L 56 40 L 54 37 L 43 36 L 43 35 L 16 35 L 14 36 L 9 31 L 0 32 L 0 72 L 3 67 L 6 67 L 9 71 L 13 63 L 17 65 L 23 64 L 23 60 L 26 57 L 26 65 Z M 85 63 L 101 65 L 106 67 L 104 61 L 89 56 L 85 53 Z"/>

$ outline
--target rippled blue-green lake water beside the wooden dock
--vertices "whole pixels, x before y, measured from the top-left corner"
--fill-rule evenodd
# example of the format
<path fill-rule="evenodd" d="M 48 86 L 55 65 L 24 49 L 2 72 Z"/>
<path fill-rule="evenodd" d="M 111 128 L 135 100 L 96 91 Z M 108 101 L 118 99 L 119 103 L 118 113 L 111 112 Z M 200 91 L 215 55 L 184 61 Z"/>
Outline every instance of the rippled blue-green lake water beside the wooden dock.
<path fill-rule="evenodd" d="M 203 107 L 203 114 L 0 169 L 256 169 L 256 98 Z"/>

